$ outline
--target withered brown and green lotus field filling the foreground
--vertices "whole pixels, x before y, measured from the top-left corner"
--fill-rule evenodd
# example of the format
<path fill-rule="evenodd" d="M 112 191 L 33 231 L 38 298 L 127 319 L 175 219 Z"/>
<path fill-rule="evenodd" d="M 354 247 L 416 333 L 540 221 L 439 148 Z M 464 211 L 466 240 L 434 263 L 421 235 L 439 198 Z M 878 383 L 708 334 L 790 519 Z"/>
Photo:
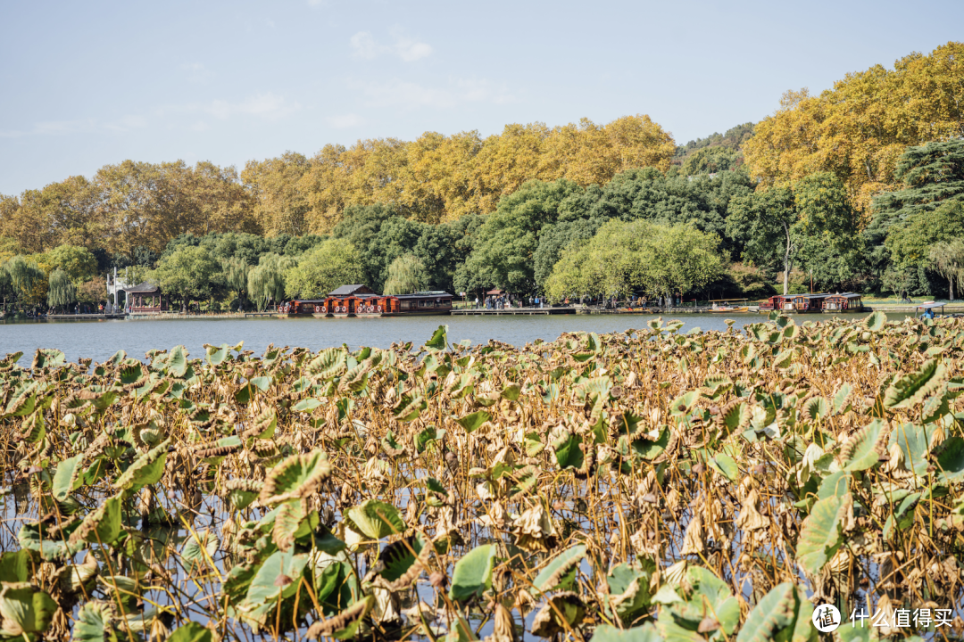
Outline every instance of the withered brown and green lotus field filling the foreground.
<path fill-rule="evenodd" d="M 964 321 L 681 325 L 8 355 L 0 636 L 960 638 Z"/>

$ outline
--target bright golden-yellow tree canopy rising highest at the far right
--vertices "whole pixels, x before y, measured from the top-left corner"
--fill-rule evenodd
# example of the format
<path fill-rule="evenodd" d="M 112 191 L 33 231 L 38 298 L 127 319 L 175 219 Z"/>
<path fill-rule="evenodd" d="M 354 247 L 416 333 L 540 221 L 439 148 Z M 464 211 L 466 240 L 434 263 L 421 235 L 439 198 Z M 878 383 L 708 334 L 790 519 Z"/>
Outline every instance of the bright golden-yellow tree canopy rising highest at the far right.
<path fill-rule="evenodd" d="M 897 157 L 908 145 L 964 136 L 964 43 L 912 53 L 847 74 L 812 96 L 789 91 L 774 116 L 756 125 L 743 150 L 764 188 L 790 187 L 815 171 L 843 181 L 856 208 L 896 187 Z"/>

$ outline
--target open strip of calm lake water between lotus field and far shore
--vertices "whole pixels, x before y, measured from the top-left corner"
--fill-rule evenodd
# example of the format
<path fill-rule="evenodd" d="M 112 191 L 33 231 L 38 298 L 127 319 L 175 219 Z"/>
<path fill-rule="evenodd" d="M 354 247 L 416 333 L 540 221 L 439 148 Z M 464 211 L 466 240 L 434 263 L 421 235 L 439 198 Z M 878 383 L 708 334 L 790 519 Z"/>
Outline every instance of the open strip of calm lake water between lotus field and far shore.
<path fill-rule="evenodd" d="M 308 347 L 319 350 L 347 344 L 389 347 L 393 342 L 411 341 L 416 346 L 427 341 L 439 325 L 448 325 L 448 339 L 457 343 L 468 339 L 485 344 L 496 339 L 522 347 L 535 339 L 551 341 L 563 332 L 622 332 L 646 328 L 650 315 L 553 315 L 491 317 L 411 317 L 375 319 L 171 319 L 137 321 L 19 321 L 0 323 L 0 355 L 21 350 L 29 359 L 39 347 L 56 347 L 69 361 L 89 357 L 95 362 L 109 358 L 119 349 L 129 356 L 143 357 L 152 348 L 183 345 L 194 356 L 204 354 L 204 344 L 233 346 L 244 342 L 246 349 L 260 355 L 268 344 Z M 664 315 L 663 320 L 679 319 L 683 331 L 695 327 L 725 330 L 724 320 L 733 319 L 736 327 L 765 321 L 760 314 Z M 828 319 L 808 315 L 804 319 Z M 800 322 L 801 320 L 798 320 Z M 21 362 L 22 363 L 22 362 Z"/>

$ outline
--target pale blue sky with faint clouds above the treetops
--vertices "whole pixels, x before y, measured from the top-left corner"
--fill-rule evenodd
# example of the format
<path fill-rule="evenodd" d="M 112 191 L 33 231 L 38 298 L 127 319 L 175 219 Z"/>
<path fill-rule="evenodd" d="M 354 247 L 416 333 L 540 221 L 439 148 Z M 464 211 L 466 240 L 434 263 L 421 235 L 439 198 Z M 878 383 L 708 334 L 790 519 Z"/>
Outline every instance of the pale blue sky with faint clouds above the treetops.
<path fill-rule="evenodd" d="M 0 193 L 582 117 L 647 114 L 683 144 L 962 24 L 960 0 L 0 0 Z"/>

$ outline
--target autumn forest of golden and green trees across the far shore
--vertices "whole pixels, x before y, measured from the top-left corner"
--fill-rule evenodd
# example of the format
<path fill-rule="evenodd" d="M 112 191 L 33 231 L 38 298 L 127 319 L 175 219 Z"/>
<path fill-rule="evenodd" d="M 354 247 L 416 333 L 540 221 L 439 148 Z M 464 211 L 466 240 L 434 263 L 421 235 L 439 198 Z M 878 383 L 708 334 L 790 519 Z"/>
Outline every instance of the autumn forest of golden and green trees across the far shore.
<path fill-rule="evenodd" d="M 124 161 L 0 195 L 4 312 L 105 300 L 264 308 L 343 283 L 550 300 L 856 291 L 964 281 L 964 43 L 787 91 L 679 145 L 649 116 L 326 144 L 240 172 Z"/>

